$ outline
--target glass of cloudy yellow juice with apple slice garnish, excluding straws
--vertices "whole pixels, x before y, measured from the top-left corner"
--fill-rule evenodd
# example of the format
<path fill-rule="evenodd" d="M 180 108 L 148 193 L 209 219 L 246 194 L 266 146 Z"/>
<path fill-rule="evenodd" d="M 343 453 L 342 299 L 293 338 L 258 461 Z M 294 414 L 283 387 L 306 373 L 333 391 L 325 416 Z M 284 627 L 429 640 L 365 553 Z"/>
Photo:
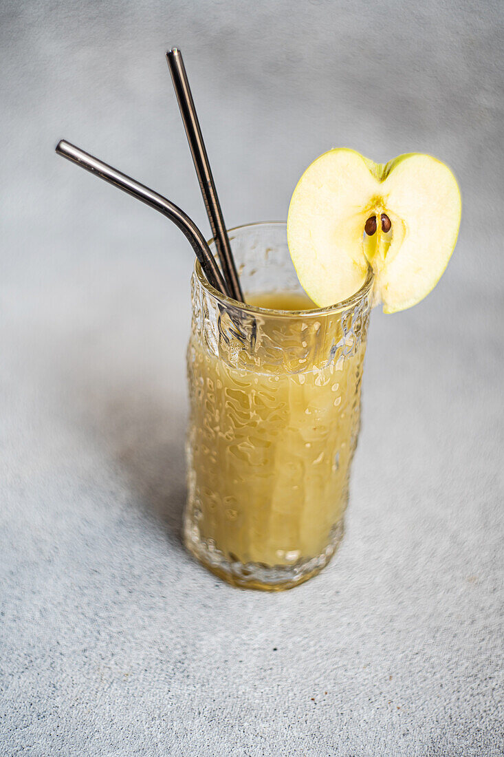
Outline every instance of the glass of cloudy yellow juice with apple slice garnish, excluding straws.
<path fill-rule="evenodd" d="M 217 575 L 280 590 L 331 558 L 369 312 L 395 313 L 434 288 L 460 213 L 456 179 L 436 158 L 376 164 L 334 148 L 301 176 L 286 225 L 230 232 L 246 304 L 213 290 L 197 266 L 185 544 Z"/>

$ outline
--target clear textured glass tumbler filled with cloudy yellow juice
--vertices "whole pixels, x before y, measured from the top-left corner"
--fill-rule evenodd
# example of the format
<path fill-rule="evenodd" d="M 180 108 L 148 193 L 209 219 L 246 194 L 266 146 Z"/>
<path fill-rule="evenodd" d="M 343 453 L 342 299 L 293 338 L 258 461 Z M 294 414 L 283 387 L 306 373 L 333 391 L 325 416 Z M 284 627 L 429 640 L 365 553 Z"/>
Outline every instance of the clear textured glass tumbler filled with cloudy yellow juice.
<path fill-rule="evenodd" d="M 285 223 L 229 238 L 246 298 L 303 293 Z M 229 300 L 194 269 L 184 539 L 231 584 L 294 587 L 341 541 L 371 301 L 372 273 L 334 307 L 287 311 Z"/>

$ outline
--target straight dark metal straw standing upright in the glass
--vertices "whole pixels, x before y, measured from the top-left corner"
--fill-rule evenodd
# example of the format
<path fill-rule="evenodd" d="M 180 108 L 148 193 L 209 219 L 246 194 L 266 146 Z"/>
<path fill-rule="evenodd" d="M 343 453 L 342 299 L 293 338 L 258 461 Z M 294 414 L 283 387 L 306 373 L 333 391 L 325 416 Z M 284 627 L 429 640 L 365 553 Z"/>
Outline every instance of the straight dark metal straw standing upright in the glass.
<path fill-rule="evenodd" d="M 194 101 L 191 95 L 191 88 L 185 73 L 184 61 L 179 48 L 172 48 L 166 53 L 166 60 L 172 75 L 173 87 L 175 89 L 177 101 L 179 102 L 180 114 L 184 122 L 185 133 L 191 148 L 194 167 L 198 174 L 201 194 L 203 195 L 205 207 L 207 208 L 208 220 L 212 227 L 213 237 L 215 238 L 219 260 L 222 266 L 222 273 L 226 279 L 228 289 L 235 300 L 244 302 L 243 292 L 241 291 L 240 279 L 236 270 L 235 261 L 233 260 L 231 245 L 229 243 L 226 224 L 222 217 L 219 198 L 215 182 L 213 181 L 210 163 L 208 161 L 207 151 L 201 134 L 198 114 L 194 107 Z"/>

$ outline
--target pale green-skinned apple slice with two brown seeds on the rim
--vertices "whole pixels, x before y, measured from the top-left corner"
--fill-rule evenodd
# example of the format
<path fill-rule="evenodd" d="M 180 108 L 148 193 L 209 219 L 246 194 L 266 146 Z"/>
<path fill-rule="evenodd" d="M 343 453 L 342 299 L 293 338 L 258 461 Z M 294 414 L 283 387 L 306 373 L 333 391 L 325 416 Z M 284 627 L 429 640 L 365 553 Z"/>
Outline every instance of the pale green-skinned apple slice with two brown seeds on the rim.
<path fill-rule="evenodd" d="M 443 275 L 459 232 L 461 199 L 450 169 L 409 153 L 376 164 L 346 148 L 318 157 L 289 207 L 289 251 L 319 307 L 349 298 L 375 273 L 385 313 L 425 298 Z"/>

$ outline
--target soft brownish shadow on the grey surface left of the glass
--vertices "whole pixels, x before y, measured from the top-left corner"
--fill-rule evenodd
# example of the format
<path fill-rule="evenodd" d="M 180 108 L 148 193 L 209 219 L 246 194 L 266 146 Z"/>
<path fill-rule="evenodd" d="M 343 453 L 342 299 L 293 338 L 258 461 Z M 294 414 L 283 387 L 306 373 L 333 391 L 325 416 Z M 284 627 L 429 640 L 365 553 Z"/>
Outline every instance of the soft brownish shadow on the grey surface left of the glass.
<path fill-rule="evenodd" d="M 78 378 L 76 378 L 78 375 Z M 103 369 L 72 370 L 70 388 L 76 418 L 103 450 L 104 465 L 113 466 L 127 500 L 166 531 L 170 544 L 182 549 L 185 504 L 186 406 L 170 382 L 151 377 L 104 375 Z M 126 380 L 125 380 L 126 378 Z M 180 394 L 180 392 L 179 392 Z M 121 487 L 122 488 L 122 487 Z M 114 491 L 110 494 L 114 497 Z"/>

